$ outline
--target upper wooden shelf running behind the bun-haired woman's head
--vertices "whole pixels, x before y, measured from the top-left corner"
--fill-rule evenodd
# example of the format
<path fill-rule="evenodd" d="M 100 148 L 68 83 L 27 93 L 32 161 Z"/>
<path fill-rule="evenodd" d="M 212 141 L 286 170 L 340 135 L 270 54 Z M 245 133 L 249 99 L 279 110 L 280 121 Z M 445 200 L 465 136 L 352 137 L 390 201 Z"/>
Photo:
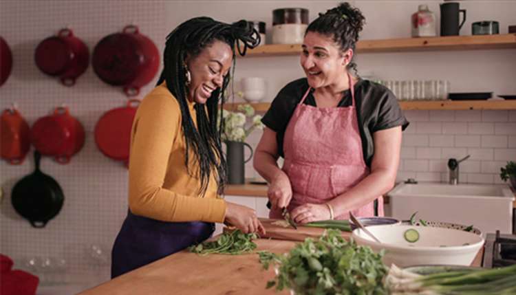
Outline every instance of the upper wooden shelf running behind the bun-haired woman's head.
<path fill-rule="evenodd" d="M 516 48 L 516 34 L 363 40 L 356 44 L 358 54 L 505 48 Z M 248 50 L 246 56 L 284 56 L 297 55 L 299 52 L 301 44 L 270 44 Z"/>

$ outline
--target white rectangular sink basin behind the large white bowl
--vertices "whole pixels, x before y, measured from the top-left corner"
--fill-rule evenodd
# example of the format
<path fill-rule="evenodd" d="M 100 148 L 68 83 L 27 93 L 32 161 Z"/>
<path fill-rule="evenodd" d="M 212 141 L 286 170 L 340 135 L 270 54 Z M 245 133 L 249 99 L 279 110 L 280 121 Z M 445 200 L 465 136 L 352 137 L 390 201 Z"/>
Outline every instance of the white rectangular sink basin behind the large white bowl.
<path fill-rule="evenodd" d="M 409 219 L 417 211 L 417 218 L 473 225 L 484 236 L 513 232 L 515 197 L 506 184 L 398 184 L 387 195 L 396 219 Z"/>

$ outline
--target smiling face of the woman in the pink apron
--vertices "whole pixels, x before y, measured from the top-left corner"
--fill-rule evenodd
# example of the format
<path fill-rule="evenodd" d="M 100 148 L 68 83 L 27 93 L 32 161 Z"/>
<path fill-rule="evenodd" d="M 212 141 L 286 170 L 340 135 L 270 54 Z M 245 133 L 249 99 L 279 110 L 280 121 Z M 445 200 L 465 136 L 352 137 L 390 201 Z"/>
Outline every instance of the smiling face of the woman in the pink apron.
<path fill-rule="evenodd" d="M 352 50 L 342 52 L 331 37 L 316 32 L 306 33 L 301 67 L 308 78 L 308 85 L 317 89 L 341 84 L 352 56 Z"/>

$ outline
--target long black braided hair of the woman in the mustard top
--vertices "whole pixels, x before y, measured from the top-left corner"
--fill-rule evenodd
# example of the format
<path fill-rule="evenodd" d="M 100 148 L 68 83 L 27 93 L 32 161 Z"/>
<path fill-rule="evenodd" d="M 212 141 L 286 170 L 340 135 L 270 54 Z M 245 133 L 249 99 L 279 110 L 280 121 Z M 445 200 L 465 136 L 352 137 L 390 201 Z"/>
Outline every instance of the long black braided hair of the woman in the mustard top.
<path fill-rule="evenodd" d="M 217 129 L 217 109 L 219 101 L 224 104 L 222 97 L 230 81 L 231 74 L 224 77 L 222 88 L 217 88 L 206 100 L 206 106 L 195 104 L 197 115 L 197 129 L 190 116 L 186 86 L 186 68 L 184 61 L 186 56 L 195 58 L 205 47 L 215 41 L 228 44 L 233 51 L 233 69 L 235 73 L 235 47 L 241 56 L 246 54 L 247 48 L 254 48 L 260 43 L 258 32 L 247 21 L 238 21 L 232 25 L 215 21 L 209 17 L 196 17 L 181 23 L 169 36 L 166 37 L 166 45 L 163 54 L 164 69 L 158 80 L 160 85 L 166 81 L 166 87 L 178 100 L 181 110 L 181 127 L 186 142 L 186 159 L 184 165 L 190 175 L 189 150 L 193 149 L 195 160 L 199 163 L 200 195 L 206 193 L 211 173 L 216 173 L 218 191 L 222 193 L 226 182 L 226 159 L 222 153 L 220 135 L 222 122 Z M 222 106 L 223 107 L 223 106 Z M 220 111 L 222 112 L 222 107 Z M 207 112 L 206 112 L 207 109 Z M 221 120 L 222 121 L 222 120 Z"/>

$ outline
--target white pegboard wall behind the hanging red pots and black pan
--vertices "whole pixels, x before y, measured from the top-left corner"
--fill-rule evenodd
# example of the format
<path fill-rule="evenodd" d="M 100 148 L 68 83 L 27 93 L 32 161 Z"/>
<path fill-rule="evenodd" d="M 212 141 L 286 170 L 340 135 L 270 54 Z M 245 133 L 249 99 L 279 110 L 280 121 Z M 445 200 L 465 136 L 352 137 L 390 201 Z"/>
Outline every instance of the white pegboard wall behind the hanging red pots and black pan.
<path fill-rule="evenodd" d="M 54 256 L 67 261 L 69 272 L 87 272 L 96 267 L 87 254 L 89 245 L 103 245 L 105 252 L 111 252 L 127 213 L 127 169 L 98 151 L 94 127 L 105 111 L 124 106 L 127 97 L 120 87 L 107 85 L 94 74 L 92 52 L 104 36 L 134 24 L 156 44 L 162 63 L 164 40 L 171 30 L 164 25 L 163 6 L 163 1 L 1 1 L 0 35 L 14 59 L 12 73 L 0 87 L 1 109 L 16 103 L 32 126 L 54 107 L 66 105 L 86 131 L 85 146 L 69 164 L 57 164 L 48 157 L 41 161 L 42 171 L 54 177 L 65 194 L 61 212 L 43 229 L 21 219 L 10 201 L 12 186 L 34 170 L 34 149 L 20 166 L 0 163 L 0 185 L 5 192 L 0 204 L 0 252 L 16 259 L 19 267 L 28 257 Z M 89 67 L 73 87 L 45 76 L 34 63 L 38 43 L 67 26 L 90 53 Z M 153 88 L 158 75 L 138 98 Z M 103 279 L 109 278 L 109 265 L 101 268 Z"/>

